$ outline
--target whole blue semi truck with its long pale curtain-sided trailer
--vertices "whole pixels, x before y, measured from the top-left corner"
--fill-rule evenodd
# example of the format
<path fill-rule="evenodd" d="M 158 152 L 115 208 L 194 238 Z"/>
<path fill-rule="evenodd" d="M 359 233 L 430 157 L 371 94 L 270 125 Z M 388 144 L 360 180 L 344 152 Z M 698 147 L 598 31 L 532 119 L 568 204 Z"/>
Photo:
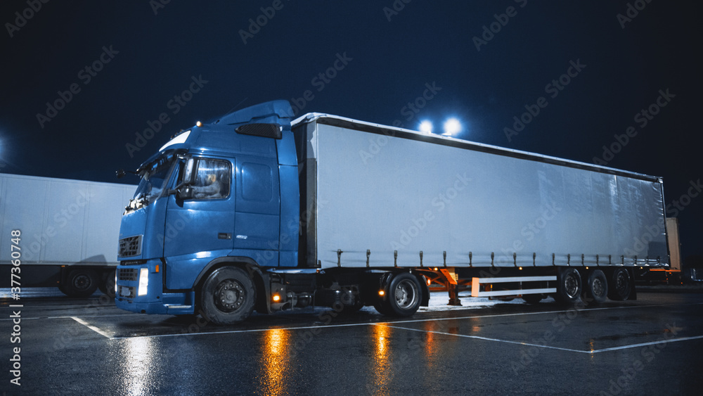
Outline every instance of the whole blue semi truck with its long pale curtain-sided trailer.
<path fill-rule="evenodd" d="M 669 265 L 662 179 L 287 101 L 198 122 L 143 162 L 122 216 L 117 307 L 201 314 L 373 306 L 439 283 L 491 298 L 636 297 Z"/>

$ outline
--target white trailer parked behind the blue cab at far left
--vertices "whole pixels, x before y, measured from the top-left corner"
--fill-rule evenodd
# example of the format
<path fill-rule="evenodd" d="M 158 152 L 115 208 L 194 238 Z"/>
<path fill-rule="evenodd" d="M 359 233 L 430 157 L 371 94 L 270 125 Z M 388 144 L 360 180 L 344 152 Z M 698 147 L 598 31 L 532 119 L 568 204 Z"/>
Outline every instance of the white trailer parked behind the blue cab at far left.
<path fill-rule="evenodd" d="M 114 295 L 115 241 L 124 203 L 134 189 L 125 184 L 0 174 L 0 270 L 3 279 L 10 280 L 11 271 L 19 275 L 13 278 L 18 283 L 6 287 L 58 286 L 70 296 L 91 295 L 100 288 Z M 19 271 L 13 270 L 16 258 Z"/>

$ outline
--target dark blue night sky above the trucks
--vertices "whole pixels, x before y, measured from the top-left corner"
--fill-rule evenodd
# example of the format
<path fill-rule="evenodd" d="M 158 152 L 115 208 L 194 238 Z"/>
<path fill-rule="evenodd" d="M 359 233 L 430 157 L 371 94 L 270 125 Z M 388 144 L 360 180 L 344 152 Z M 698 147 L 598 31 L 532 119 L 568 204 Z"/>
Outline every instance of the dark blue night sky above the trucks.
<path fill-rule="evenodd" d="M 0 10 L 0 172 L 136 184 L 115 170 L 136 169 L 198 120 L 273 99 L 295 99 L 297 115 L 409 129 L 457 117 L 460 139 L 664 177 L 684 257 L 703 254 L 703 193 L 692 188 L 703 187 L 699 2 L 5 0 Z"/>

